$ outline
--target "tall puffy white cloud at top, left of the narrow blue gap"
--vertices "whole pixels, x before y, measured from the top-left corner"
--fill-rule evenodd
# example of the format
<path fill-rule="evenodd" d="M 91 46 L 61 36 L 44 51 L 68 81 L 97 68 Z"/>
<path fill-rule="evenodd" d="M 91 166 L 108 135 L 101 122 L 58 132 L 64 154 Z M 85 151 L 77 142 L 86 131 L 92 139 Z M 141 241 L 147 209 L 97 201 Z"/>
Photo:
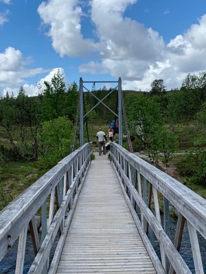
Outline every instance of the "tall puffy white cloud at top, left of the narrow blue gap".
<path fill-rule="evenodd" d="M 78 0 L 43 1 L 38 13 L 43 23 L 50 26 L 47 36 L 52 38 L 52 46 L 60 56 L 78 56 L 95 51 L 95 44 L 81 34 L 80 18 L 83 14 Z"/>

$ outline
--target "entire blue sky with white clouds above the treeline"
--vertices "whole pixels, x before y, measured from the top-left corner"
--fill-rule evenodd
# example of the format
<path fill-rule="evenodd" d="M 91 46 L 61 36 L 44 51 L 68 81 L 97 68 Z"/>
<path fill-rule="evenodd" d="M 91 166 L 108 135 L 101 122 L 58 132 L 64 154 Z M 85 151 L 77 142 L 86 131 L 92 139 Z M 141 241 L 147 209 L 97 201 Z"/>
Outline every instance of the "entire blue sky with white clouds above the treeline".
<path fill-rule="evenodd" d="M 205 0 L 0 0 L 0 95 L 43 90 L 58 69 L 71 84 L 181 87 L 206 71 Z"/>

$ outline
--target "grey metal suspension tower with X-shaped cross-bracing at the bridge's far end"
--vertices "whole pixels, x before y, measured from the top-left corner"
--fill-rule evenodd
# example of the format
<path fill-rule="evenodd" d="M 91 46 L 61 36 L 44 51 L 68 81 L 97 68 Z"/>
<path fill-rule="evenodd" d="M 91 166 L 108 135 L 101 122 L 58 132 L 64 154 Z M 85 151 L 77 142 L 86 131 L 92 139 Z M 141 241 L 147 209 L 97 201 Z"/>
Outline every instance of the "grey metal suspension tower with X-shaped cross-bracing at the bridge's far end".
<path fill-rule="evenodd" d="M 85 86 L 84 83 L 91 83 L 93 84 L 93 89 L 95 87 L 95 83 L 117 83 L 117 86 L 113 88 L 108 94 L 103 98 L 99 99 L 96 95 L 93 94 L 93 92 L 90 92 Z M 87 113 L 84 114 L 84 100 L 83 100 L 83 92 L 86 90 L 87 92 L 90 92 L 90 94 L 95 97 L 95 99 L 98 100 L 98 103 L 96 103 L 91 110 L 89 110 Z M 114 90 L 118 90 L 118 112 L 115 113 L 111 108 L 104 103 L 104 99 L 111 95 L 111 93 Z M 94 110 L 100 103 L 104 105 L 105 108 L 107 108 L 109 111 L 111 111 L 118 119 L 119 122 L 119 145 L 122 146 L 122 79 L 119 77 L 118 81 L 83 81 L 82 78 L 80 78 L 80 100 L 79 100 L 79 110 L 80 110 L 80 146 L 84 144 L 84 118 L 92 111 Z"/>

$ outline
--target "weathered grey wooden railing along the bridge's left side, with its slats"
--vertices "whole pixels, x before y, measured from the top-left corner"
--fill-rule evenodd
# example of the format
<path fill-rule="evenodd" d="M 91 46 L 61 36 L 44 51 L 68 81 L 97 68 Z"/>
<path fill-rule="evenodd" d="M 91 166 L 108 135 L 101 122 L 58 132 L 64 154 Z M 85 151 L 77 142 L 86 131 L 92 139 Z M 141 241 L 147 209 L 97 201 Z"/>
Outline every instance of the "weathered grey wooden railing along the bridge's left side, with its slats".
<path fill-rule="evenodd" d="M 16 251 L 16 274 L 23 273 L 27 229 L 30 227 L 35 258 L 28 273 L 56 273 L 65 236 L 78 195 L 91 162 L 91 144 L 87 143 L 58 162 L 54 168 L 27 188 L 0 212 L 0 261 Z M 41 218 L 38 232 L 36 216 Z M 59 236 L 54 258 L 49 254 Z"/>

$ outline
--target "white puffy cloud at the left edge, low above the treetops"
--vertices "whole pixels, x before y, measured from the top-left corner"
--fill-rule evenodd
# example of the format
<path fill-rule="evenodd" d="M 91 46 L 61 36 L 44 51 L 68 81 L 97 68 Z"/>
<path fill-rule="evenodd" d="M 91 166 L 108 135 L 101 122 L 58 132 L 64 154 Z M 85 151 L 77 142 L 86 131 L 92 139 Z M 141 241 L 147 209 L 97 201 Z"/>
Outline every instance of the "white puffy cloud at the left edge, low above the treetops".
<path fill-rule="evenodd" d="M 27 77 L 45 73 L 47 70 L 42 68 L 28 69 L 25 66 L 25 59 L 21 51 L 8 47 L 3 53 L 0 53 L 0 89 L 6 87 L 19 88 L 26 84 Z"/>

